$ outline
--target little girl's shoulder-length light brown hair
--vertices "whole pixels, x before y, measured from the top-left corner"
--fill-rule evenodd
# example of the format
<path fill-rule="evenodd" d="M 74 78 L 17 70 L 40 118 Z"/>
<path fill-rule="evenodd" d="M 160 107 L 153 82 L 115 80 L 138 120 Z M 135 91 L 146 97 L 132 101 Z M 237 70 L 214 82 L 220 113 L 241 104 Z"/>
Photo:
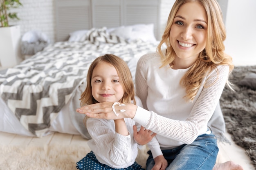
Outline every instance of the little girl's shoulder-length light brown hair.
<path fill-rule="evenodd" d="M 115 67 L 117 70 L 117 74 L 119 76 L 119 81 L 124 89 L 124 96 L 121 99 L 121 102 L 123 103 L 133 103 L 136 105 L 135 101 L 135 90 L 134 90 L 134 84 L 132 81 L 132 74 L 130 72 L 130 69 L 126 62 L 121 59 L 120 57 L 117 57 L 113 54 L 105 54 L 103 56 L 97 57 L 90 65 L 86 77 L 86 88 L 85 91 L 81 94 L 81 100 L 80 106 L 84 105 L 91 105 L 94 103 L 98 103 L 98 101 L 92 96 L 92 72 L 94 68 L 101 63 L 106 62 Z M 86 126 L 86 120 L 87 116 L 84 118 L 84 124 Z"/>

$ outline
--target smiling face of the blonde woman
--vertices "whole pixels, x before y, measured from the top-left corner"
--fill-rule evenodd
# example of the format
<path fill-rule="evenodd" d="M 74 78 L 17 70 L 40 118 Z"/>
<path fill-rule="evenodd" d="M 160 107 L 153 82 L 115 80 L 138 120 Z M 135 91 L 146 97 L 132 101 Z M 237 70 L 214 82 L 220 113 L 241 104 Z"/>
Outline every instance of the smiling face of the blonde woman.
<path fill-rule="evenodd" d="M 190 67 L 206 46 L 207 14 L 199 2 L 187 2 L 177 11 L 169 40 L 177 57 L 174 60 Z"/>

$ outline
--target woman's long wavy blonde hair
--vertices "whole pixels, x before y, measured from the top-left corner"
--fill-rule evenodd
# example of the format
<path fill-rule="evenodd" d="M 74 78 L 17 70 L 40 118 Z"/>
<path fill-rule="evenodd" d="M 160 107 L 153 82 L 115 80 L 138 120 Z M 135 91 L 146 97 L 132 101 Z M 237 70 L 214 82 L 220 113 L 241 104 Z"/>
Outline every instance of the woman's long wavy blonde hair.
<path fill-rule="evenodd" d="M 175 59 L 175 52 L 170 44 L 169 35 L 173 19 L 178 9 L 187 2 L 199 2 L 207 13 L 207 41 L 206 46 L 202 52 L 199 53 L 198 59 L 183 76 L 181 84 L 186 87 L 186 99 L 193 101 L 202 83 L 202 79 L 215 69 L 217 72 L 217 65 L 229 65 L 229 74 L 234 69 L 232 57 L 225 54 L 225 46 L 223 41 L 226 39 L 225 25 L 222 20 L 222 12 L 216 0 L 176 0 L 173 4 L 171 12 L 168 17 L 167 25 L 162 36 L 162 40 L 157 46 L 157 52 L 162 58 L 162 66 L 170 65 L 172 67 Z M 163 44 L 166 44 L 167 50 L 164 54 L 161 50 Z M 227 80 L 227 85 L 230 83 Z"/>

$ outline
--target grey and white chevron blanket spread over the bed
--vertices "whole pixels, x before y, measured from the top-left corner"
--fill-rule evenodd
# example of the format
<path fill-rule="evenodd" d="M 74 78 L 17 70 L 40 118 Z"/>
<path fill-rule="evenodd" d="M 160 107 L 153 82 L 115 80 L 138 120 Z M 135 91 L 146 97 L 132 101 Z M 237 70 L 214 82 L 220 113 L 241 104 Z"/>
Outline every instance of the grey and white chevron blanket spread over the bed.
<path fill-rule="evenodd" d="M 157 42 L 108 43 L 102 37 L 97 43 L 85 40 L 51 44 L 19 65 L 0 71 L 0 96 L 25 129 L 42 137 L 63 106 L 74 99 L 96 57 L 111 53 L 128 63 L 155 51 L 156 46 Z"/>

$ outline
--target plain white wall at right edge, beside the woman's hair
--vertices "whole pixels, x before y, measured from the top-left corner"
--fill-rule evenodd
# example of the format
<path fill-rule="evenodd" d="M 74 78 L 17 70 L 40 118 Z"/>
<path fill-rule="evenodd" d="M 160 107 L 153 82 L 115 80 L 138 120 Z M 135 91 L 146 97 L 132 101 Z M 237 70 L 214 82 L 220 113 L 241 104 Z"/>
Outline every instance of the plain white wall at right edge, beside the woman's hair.
<path fill-rule="evenodd" d="M 256 0 L 228 0 L 226 52 L 235 65 L 256 65 Z"/>

